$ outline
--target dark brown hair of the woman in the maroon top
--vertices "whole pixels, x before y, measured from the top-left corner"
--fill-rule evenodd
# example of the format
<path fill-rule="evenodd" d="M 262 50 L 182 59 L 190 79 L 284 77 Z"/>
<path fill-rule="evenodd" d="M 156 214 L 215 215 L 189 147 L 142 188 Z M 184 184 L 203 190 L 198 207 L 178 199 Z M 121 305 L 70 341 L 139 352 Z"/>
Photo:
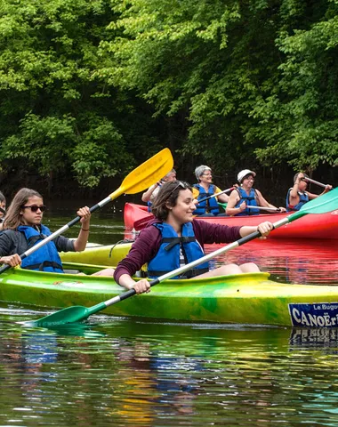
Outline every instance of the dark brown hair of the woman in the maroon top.
<path fill-rule="evenodd" d="M 157 220 L 165 221 L 169 214 L 168 206 L 175 206 L 177 197 L 179 197 L 181 189 L 189 189 L 192 187 L 185 181 L 169 181 L 165 182 L 159 189 L 157 196 L 151 206 L 151 212 L 156 216 Z"/>

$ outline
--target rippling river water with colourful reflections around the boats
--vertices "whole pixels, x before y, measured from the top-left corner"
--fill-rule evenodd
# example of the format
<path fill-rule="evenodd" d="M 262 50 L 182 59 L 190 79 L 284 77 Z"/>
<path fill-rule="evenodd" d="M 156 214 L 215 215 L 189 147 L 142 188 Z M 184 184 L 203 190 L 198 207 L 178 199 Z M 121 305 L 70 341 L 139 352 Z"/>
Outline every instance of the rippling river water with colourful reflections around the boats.
<path fill-rule="evenodd" d="M 74 212 L 54 205 L 44 223 L 57 230 Z M 93 214 L 92 224 L 93 243 L 125 238 L 118 206 Z M 337 284 L 336 246 L 268 238 L 215 263 L 254 261 L 281 282 Z M 338 425 L 334 329 L 104 314 L 53 330 L 18 323 L 44 314 L 0 302 L 1 427 Z"/>

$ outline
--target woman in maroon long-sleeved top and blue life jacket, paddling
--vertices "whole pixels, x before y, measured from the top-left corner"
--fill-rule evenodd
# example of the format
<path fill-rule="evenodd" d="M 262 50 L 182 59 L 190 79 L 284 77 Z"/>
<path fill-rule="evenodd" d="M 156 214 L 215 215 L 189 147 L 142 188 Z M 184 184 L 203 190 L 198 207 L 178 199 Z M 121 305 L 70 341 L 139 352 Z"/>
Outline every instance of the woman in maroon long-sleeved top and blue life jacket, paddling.
<path fill-rule="evenodd" d="M 187 182 L 166 182 L 162 186 L 152 207 L 157 221 L 141 230 L 129 254 L 117 265 L 114 278 L 119 285 L 127 289 L 134 287 L 137 294 L 149 292 L 147 279 L 133 280 L 135 272 L 146 262 L 149 278 L 156 278 L 204 256 L 205 244 L 233 242 L 256 230 L 265 237 L 272 230 L 270 222 L 262 222 L 258 227 L 199 222 L 193 219 L 195 202 Z M 252 262 L 222 265 L 210 271 L 204 263 L 179 278 L 210 278 L 257 271 L 259 268 Z"/>

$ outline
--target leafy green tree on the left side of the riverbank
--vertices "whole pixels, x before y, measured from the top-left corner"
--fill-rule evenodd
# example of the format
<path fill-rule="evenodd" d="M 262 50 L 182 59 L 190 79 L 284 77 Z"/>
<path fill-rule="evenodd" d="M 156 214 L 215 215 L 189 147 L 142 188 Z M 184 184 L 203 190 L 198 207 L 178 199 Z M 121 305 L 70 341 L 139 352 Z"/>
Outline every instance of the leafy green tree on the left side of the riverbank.
<path fill-rule="evenodd" d="M 114 19 L 109 0 L 1 2 L 4 173 L 13 167 L 37 171 L 50 189 L 67 175 L 93 188 L 140 162 L 149 133 L 140 136 L 138 124 L 144 127 L 151 116 L 140 109 L 135 118 L 140 101 L 133 93 L 93 77 L 98 46 Z"/>

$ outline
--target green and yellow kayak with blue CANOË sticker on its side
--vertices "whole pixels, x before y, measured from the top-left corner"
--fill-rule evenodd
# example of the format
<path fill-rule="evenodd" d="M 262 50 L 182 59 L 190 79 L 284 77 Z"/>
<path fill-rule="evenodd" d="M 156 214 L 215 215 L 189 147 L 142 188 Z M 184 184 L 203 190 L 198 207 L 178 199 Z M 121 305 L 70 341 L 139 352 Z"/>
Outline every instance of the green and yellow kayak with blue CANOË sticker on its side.
<path fill-rule="evenodd" d="M 102 266 L 65 263 L 64 267 L 87 276 L 7 270 L 0 277 L 0 300 L 55 310 L 90 307 L 125 292 L 113 278 L 90 276 Z M 169 279 L 152 287 L 149 294 L 118 302 L 102 313 L 189 322 L 337 327 L 338 286 L 286 285 L 271 281 L 268 273 Z"/>

